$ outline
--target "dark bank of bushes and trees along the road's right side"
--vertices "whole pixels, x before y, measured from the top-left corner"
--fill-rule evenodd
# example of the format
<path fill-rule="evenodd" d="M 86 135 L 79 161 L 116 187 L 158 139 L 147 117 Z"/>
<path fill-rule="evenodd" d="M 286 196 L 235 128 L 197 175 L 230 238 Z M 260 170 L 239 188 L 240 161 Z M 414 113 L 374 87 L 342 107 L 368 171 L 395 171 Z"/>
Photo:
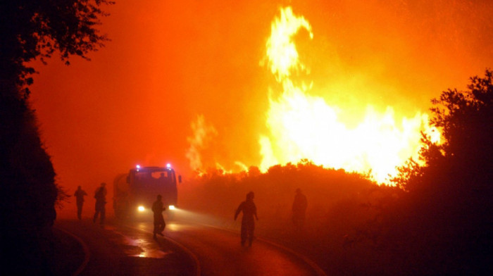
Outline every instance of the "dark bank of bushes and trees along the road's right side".
<path fill-rule="evenodd" d="M 349 275 L 491 275 L 493 228 L 492 72 L 466 91 L 432 99 L 420 164 L 399 168 L 394 186 L 303 161 L 239 174 L 211 171 L 181 187 L 181 203 L 225 220 L 256 193 L 258 234 L 310 254 L 323 268 Z M 294 191 L 308 197 L 306 227 L 290 223 Z"/>

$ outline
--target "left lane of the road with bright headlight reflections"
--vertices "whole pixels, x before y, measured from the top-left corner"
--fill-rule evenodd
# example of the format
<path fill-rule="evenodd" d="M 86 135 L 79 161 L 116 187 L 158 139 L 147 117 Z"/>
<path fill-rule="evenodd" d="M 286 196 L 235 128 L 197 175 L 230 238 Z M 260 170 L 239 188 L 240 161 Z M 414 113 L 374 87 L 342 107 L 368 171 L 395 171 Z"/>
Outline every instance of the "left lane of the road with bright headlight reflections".
<path fill-rule="evenodd" d="M 167 239 L 153 239 L 148 232 L 111 221 L 101 227 L 89 219 L 60 220 L 55 227 L 87 247 L 87 264 L 80 260 L 78 275 L 196 275 L 188 253 Z"/>

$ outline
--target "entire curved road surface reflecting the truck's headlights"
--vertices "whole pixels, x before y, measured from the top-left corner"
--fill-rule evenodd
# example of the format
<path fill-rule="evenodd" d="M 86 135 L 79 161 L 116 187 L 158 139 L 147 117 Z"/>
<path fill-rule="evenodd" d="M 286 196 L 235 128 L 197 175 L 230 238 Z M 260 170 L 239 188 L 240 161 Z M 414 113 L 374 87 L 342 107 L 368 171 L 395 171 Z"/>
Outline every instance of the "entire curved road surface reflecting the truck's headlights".
<path fill-rule="evenodd" d="M 251 247 L 239 233 L 186 221 L 167 222 L 152 238 L 151 222 L 62 220 L 58 228 L 87 245 L 80 275 L 324 275 L 309 260 L 263 239 Z M 82 262 L 81 262 L 82 263 Z"/>

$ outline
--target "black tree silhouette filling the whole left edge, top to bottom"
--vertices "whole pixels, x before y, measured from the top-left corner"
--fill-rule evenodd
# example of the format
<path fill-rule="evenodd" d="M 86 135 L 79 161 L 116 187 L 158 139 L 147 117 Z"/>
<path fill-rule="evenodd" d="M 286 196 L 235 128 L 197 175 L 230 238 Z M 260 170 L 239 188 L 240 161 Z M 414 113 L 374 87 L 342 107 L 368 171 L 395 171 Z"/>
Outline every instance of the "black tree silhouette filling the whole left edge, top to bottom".
<path fill-rule="evenodd" d="M 15 275 L 49 274 L 57 187 L 49 155 L 39 139 L 28 85 L 35 58 L 56 51 L 68 64 L 87 58 L 106 40 L 96 25 L 107 0 L 0 1 L 0 237 L 2 270 Z M 10 273 L 12 272 L 12 273 Z"/>

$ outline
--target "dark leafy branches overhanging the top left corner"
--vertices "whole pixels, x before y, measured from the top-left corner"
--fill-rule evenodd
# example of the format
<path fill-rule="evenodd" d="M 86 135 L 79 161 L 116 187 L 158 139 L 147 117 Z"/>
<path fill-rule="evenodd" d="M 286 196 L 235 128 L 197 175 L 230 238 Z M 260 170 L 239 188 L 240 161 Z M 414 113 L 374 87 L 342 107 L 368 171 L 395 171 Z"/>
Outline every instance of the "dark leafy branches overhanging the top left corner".
<path fill-rule="evenodd" d="M 0 63 L 3 84 L 31 84 L 35 69 L 26 65 L 35 58 L 45 61 L 58 51 L 65 63 L 70 56 L 87 58 L 107 39 L 96 28 L 101 6 L 109 0 L 18 0 L 0 3 Z M 23 87 L 27 88 L 27 87 Z M 24 90 L 29 92 L 28 89 Z M 24 95 L 27 96 L 27 95 Z"/>

